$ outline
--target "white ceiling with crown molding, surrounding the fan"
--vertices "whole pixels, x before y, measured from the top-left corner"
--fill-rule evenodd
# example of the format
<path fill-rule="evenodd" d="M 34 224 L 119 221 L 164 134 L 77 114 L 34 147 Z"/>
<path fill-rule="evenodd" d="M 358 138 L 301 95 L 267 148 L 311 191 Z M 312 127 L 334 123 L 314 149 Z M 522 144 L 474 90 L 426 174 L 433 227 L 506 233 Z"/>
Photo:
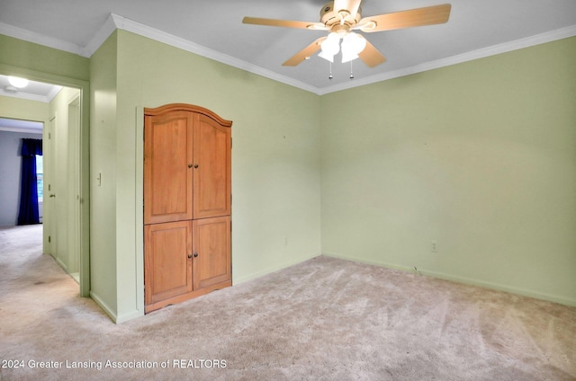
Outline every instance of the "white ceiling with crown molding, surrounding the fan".
<path fill-rule="evenodd" d="M 90 57 L 115 28 L 163 40 L 203 56 L 293 84 L 329 93 L 400 75 L 487 57 L 576 35 L 574 0 L 364 0 L 363 16 L 443 3 L 446 24 L 365 33 L 387 61 L 374 68 L 354 61 L 333 65 L 313 56 L 291 58 L 325 31 L 242 23 L 244 16 L 320 21 L 328 0 L 0 0 L 0 33 Z"/>

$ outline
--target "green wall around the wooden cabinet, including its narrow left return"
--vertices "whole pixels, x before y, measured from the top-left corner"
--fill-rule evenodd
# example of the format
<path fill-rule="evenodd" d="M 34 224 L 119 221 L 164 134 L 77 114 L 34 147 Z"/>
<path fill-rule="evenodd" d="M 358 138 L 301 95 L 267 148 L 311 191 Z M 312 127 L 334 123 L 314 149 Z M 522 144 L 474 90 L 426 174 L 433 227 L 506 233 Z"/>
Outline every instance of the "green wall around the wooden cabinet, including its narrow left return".
<path fill-rule="evenodd" d="M 117 322 L 143 313 L 145 107 L 191 103 L 233 121 L 233 283 L 321 253 L 320 97 L 128 31 L 117 31 L 96 52 L 92 73 L 92 168 L 107 168 L 102 187 L 92 187 L 92 256 L 94 266 L 115 270 L 116 295 L 107 289 L 100 302 Z M 112 78 L 115 103 L 101 104 L 101 83 L 110 82 L 112 93 Z M 112 110 L 115 123 L 101 128 L 100 113 Z M 107 193 L 102 203 L 101 192 Z M 98 232 L 110 229 L 115 240 L 96 244 Z M 96 264 L 100 257 L 103 263 Z M 100 272 L 93 270 L 93 284 L 103 282 Z"/>

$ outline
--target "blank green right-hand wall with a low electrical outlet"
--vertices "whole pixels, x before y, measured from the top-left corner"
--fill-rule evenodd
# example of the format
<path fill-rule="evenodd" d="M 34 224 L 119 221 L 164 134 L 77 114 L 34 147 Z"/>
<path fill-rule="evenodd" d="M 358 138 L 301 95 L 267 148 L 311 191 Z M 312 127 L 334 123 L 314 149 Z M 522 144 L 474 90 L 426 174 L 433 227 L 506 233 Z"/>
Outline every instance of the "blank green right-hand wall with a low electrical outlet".
<path fill-rule="evenodd" d="M 576 38 L 323 96 L 323 252 L 576 305 L 575 99 Z"/>

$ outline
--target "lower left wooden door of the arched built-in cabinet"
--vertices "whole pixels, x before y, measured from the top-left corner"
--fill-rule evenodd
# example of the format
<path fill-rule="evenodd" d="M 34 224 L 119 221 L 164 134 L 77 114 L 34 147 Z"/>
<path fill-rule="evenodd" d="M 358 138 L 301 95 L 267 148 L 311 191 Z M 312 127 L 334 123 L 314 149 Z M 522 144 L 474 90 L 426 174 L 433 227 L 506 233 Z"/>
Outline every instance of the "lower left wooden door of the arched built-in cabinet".
<path fill-rule="evenodd" d="M 145 304 L 193 290 L 192 221 L 144 226 Z"/>

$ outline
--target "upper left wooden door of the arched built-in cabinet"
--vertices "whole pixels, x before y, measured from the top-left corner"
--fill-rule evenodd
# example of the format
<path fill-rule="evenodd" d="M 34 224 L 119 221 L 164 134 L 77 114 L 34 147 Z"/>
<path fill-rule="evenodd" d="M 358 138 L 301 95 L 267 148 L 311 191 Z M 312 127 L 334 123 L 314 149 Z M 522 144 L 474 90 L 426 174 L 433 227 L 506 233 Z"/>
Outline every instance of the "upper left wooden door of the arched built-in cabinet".
<path fill-rule="evenodd" d="M 147 116 L 144 130 L 144 224 L 192 219 L 190 112 Z"/>

